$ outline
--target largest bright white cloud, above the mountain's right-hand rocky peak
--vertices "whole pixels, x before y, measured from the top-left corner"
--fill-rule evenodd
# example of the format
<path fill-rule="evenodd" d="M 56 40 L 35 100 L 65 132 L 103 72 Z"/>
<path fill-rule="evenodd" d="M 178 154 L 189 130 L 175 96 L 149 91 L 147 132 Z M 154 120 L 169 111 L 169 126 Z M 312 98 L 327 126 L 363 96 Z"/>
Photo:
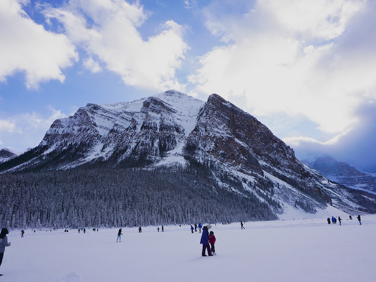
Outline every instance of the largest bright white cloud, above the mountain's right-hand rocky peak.
<path fill-rule="evenodd" d="M 243 15 L 215 14 L 218 3 L 205 11 L 207 26 L 227 44 L 200 58 L 192 92 L 243 96 L 254 115 L 304 116 L 332 135 L 358 122 L 365 99 L 376 99 L 374 48 L 347 44 L 364 1 L 258 1 Z"/>

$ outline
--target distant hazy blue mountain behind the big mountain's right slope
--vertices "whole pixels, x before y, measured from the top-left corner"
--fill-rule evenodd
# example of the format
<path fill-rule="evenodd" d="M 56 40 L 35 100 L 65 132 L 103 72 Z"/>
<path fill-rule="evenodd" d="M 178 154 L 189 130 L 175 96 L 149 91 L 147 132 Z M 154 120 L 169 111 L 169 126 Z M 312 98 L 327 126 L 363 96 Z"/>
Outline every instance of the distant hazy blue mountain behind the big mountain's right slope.
<path fill-rule="evenodd" d="M 361 172 L 346 162 L 339 162 L 327 154 L 313 153 L 309 156 L 310 158 L 302 161 L 329 180 L 350 188 L 376 192 L 376 180 L 370 174 Z"/>

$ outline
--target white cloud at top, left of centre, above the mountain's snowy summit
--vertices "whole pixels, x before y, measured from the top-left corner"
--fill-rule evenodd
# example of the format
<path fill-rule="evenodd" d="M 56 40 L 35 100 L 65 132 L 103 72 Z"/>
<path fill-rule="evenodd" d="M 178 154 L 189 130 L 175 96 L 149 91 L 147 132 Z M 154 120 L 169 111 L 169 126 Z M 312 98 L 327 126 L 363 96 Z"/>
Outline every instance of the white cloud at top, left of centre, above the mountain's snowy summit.
<path fill-rule="evenodd" d="M 124 83 L 158 91 L 184 90 L 175 71 L 188 45 L 182 38 L 183 27 L 174 21 L 167 21 L 159 27 L 161 32 L 144 41 L 137 28 L 147 19 L 147 13 L 139 2 L 76 0 L 58 9 L 46 9 L 44 14 L 63 23 L 74 44 L 83 48 L 89 58 L 99 58 Z M 90 63 L 86 61 L 85 66 Z"/>

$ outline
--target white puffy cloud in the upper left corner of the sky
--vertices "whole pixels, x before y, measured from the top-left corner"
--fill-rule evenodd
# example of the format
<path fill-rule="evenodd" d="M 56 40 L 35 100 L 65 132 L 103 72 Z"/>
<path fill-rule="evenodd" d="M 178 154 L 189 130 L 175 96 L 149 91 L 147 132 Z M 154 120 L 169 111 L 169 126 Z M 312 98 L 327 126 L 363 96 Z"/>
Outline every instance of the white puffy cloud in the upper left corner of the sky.
<path fill-rule="evenodd" d="M 26 85 L 37 88 L 50 79 L 63 82 L 62 68 L 77 60 L 67 37 L 46 31 L 22 10 L 25 1 L 0 2 L 0 82 L 17 71 L 26 74 Z"/>

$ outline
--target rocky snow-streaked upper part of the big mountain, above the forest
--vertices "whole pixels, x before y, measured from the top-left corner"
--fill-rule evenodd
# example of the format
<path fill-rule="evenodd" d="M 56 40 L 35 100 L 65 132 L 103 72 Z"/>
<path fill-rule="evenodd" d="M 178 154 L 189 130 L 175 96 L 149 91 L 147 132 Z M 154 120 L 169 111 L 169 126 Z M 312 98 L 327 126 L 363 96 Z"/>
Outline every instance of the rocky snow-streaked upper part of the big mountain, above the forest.
<path fill-rule="evenodd" d="M 88 104 L 54 121 L 38 147 L 0 171 L 95 162 L 148 169 L 202 165 L 223 189 L 243 197 L 251 191 L 277 214 L 291 208 L 315 213 L 327 204 L 373 211 L 372 200 L 365 206 L 363 196 L 306 167 L 264 124 L 217 94 L 203 102 L 169 90 L 132 102 Z"/>

